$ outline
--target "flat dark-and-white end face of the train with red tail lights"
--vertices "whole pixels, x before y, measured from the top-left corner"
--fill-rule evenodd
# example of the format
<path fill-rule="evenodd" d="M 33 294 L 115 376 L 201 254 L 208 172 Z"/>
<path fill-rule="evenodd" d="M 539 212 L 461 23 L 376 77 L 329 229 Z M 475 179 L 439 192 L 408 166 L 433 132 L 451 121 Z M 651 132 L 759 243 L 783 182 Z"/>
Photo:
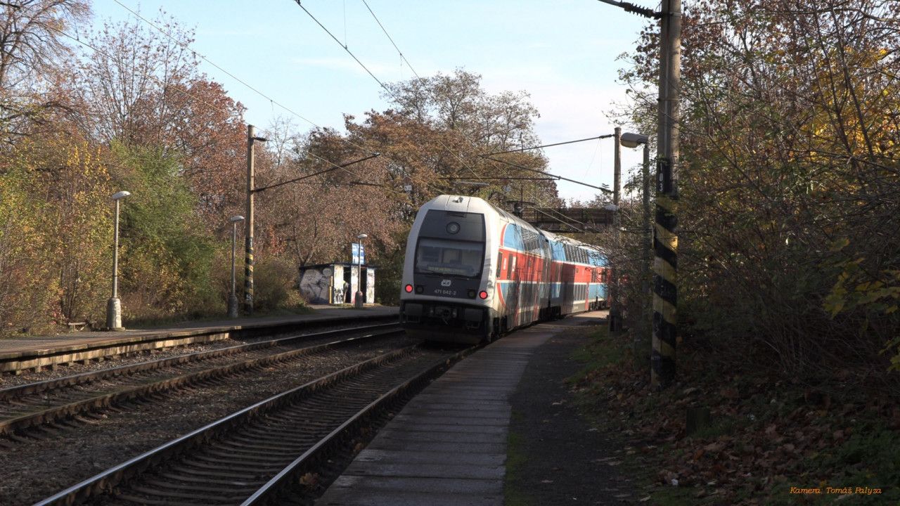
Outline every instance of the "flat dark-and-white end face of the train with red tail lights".
<path fill-rule="evenodd" d="M 407 334 L 460 343 L 490 339 L 496 315 L 482 281 L 489 268 L 484 214 L 429 209 L 412 232 L 400 308 Z"/>

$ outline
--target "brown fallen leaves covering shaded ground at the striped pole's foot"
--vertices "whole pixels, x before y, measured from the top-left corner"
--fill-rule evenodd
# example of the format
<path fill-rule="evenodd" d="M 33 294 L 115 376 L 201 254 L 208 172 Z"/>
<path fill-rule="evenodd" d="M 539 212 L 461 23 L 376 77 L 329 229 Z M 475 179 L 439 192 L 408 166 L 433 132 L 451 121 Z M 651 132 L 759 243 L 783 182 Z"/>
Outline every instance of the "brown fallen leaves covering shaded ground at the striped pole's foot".
<path fill-rule="evenodd" d="M 822 457 L 847 442 L 860 420 L 887 421 L 900 441 L 900 408 L 886 397 L 859 395 L 841 403 L 835 393 L 761 373 L 684 369 L 662 393 L 650 389 L 646 371 L 635 370 L 630 360 L 591 371 L 573 385 L 593 402 L 604 429 L 631 442 L 635 451 L 626 455 L 648 474 L 648 492 L 688 488 L 685 497 L 709 504 L 785 501 L 790 486 L 844 486 L 842 478 L 861 475 L 852 473 L 870 465 L 864 459 L 847 468 L 814 465 L 830 462 Z M 689 436 L 686 411 L 697 407 L 709 409 L 710 421 Z M 852 484 L 867 485 L 900 483 Z"/>

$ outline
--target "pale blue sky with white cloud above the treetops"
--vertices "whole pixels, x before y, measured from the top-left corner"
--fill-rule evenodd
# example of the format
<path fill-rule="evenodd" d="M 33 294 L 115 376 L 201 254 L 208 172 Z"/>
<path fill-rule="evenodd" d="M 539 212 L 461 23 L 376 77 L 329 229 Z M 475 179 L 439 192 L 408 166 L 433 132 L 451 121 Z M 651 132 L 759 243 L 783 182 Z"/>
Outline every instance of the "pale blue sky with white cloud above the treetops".
<path fill-rule="evenodd" d="M 464 68 L 480 74 L 491 93 L 529 93 L 541 113 L 536 131 L 544 143 L 612 133 L 608 113 L 614 103 L 626 101 L 626 88 L 617 82 L 624 63 L 617 57 L 634 48 L 646 22 L 596 0 L 367 3 L 419 76 Z M 193 28 L 194 50 L 268 97 L 201 65 L 247 106 L 247 122 L 258 128 L 284 116 L 301 131 L 311 122 L 342 130 L 344 113 L 361 117 L 387 107 L 378 83 L 293 0 L 94 0 L 94 23 L 128 19 L 132 14 L 122 5 L 148 19 L 162 8 Z M 362 0 L 305 0 L 302 5 L 381 81 L 414 77 Z M 548 148 L 545 154 L 553 174 L 612 186 L 612 140 Z M 640 159 L 638 150 L 623 149 L 624 170 Z M 559 189 L 564 198 L 588 200 L 594 194 L 565 182 Z"/>

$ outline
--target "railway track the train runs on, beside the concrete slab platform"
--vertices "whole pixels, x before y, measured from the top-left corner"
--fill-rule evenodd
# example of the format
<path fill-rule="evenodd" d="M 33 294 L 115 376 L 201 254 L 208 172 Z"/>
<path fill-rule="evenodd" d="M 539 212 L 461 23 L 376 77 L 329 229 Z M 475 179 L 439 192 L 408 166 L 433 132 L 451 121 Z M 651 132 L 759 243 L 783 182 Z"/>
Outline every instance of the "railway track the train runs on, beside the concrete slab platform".
<path fill-rule="evenodd" d="M 473 348 L 394 350 L 257 402 L 38 502 L 267 504 L 308 501 L 329 462 Z"/>

